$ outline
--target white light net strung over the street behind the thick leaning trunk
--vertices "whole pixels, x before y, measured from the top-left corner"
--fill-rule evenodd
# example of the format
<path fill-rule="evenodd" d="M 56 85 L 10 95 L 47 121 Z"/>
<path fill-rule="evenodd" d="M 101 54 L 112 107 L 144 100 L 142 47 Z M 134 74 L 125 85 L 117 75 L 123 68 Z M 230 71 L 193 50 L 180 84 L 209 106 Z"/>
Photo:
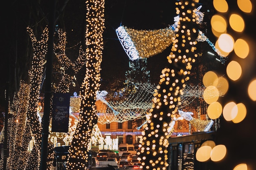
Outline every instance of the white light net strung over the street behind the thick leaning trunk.
<path fill-rule="evenodd" d="M 131 93 L 124 101 L 106 101 L 104 98 L 106 98 L 108 92 L 98 91 L 98 123 L 121 123 L 145 117 L 152 108 L 155 89 L 155 85 L 150 83 L 138 83 L 136 92 Z M 178 107 L 182 109 L 191 104 L 196 98 L 203 98 L 204 89 L 204 86 L 186 85 Z"/>

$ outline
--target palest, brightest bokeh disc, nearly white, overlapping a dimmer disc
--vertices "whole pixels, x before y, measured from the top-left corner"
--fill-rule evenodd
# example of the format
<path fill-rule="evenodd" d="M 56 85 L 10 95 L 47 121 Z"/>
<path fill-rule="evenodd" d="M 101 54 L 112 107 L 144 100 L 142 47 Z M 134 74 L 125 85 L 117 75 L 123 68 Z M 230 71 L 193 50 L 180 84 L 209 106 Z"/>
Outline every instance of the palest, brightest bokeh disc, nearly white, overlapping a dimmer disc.
<path fill-rule="evenodd" d="M 218 43 L 222 51 L 230 53 L 234 49 L 235 41 L 231 35 L 225 33 L 220 35 Z"/>

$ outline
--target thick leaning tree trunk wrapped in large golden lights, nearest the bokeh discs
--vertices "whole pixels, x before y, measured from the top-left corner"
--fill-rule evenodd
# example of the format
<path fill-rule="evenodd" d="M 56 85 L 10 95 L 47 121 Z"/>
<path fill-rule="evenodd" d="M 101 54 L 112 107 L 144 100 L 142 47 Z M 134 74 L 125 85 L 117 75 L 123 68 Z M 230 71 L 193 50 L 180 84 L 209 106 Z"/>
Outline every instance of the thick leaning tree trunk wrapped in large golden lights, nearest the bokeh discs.
<path fill-rule="evenodd" d="M 167 57 L 169 67 L 164 68 L 160 75 L 158 92 L 154 95 L 153 107 L 147 115 L 148 123 L 144 126 L 143 140 L 140 141 L 139 157 L 145 170 L 167 169 L 168 127 L 178 111 L 182 89 L 189 80 L 191 63 L 197 57 L 195 50 L 199 22 L 195 1 L 180 0 L 175 4 L 180 19 L 175 29 L 176 39 Z"/>

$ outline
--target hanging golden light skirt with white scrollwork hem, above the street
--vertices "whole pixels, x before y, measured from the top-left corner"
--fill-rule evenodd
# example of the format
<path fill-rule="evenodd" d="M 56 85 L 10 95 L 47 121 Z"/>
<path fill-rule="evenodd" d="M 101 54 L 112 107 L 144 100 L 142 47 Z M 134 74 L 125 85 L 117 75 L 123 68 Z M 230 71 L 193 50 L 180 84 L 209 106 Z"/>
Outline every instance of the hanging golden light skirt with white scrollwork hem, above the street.
<path fill-rule="evenodd" d="M 171 27 L 158 30 L 135 30 L 119 26 L 116 33 L 130 60 L 159 54 L 170 46 L 175 38 Z"/>

